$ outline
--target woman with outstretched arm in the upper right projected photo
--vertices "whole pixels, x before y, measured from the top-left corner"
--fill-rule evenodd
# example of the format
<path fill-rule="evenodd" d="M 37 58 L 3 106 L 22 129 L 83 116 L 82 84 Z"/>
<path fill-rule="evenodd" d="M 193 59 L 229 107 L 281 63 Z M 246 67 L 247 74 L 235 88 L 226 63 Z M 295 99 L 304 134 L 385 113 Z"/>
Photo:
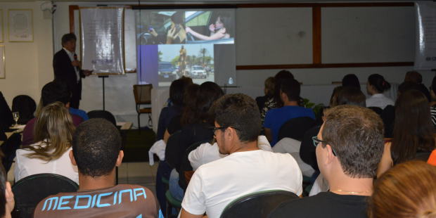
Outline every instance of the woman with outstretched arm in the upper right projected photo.
<path fill-rule="evenodd" d="M 186 27 L 186 33 L 191 33 L 200 40 L 229 39 L 231 34 L 231 18 L 225 15 L 219 15 L 215 23 L 209 25 L 210 36 L 205 36 L 195 32 L 190 27 Z"/>

